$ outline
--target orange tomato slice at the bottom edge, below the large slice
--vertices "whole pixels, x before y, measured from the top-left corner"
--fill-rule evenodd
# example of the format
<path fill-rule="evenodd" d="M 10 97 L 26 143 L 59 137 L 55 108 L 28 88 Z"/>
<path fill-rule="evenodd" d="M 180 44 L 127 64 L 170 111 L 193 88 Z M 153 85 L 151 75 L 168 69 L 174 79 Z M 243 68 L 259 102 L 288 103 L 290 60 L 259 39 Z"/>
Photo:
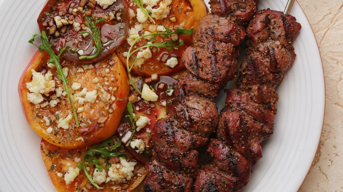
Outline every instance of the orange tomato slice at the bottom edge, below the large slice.
<path fill-rule="evenodd" d="M 113 142 L 109 144 L 112 146 L 115 141 L 117 141 L 117 136 L 112 136 Z M 70 183 L 66 184 L 64 176 L 68 172 L 69 167 L 76 168 L 78 163 L 82 163 L 83 155 L 88 150 L 91 150 L 93 146 L 82 147 L 77 149 L 64 149 L 58 146 L 52 145 L 46 140 L 42 139 L 40 143 L 40 152 L 45 164 L 45 167 L 48 171 L 52 184 L 58 191 L 64 192 L 74 192 L 74 191 L 89 191 L 95 192 L 98 191 L 87 179 L 85 176 L 84 170 L 80 171 L 80 174 Z M 137 159 L 124 147 L 119 147 L 116 149 L 117 152 L 126 153 L 130 161 L 135 161 L 137 164 L 134 166 L 132 171 L 133 177 L 131 180 L 125 181 L 124 183 L 115 183 L 109 181 L 108 183 L 102 183 L 99 187 L 103 192 L 106 191 L 132 191 L 144 180 L 146 176 L 145 165 L 138 162 Z M 105 162 L 102 161 L 101 157 L 98 160 L 103 165 L 105 169 Z M 91 177 L 93 177 L 94 167 L 86 165 L 89 168 L 87 171 Z M 106 173 L 108 172 L 107 169 Z M 59 177 L 60 176 L 60 177 Z M 107 176 L 107 174 L 106 174 Z M 108 176 L 107 176 L 108 177 Z"/>

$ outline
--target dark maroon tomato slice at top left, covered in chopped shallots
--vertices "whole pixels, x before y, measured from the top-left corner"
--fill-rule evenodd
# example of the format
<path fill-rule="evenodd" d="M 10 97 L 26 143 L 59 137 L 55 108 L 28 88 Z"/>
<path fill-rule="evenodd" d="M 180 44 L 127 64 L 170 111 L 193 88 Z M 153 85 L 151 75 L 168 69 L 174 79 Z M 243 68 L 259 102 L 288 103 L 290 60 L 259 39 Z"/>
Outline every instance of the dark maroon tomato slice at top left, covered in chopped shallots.
<path fill-rule="evenodd" d="M 88 12 L 85 12 L 86 8 Z M 103 22 L 96 24 L 100 29 L 103 46 L 97 57 L 79 59 L 79 56 L 92 56 L 97 51 L 92 37 L 80 33 L 89 30 L 85 25 L 85 16 L 89 11 L 94 18 L 105 18 Z M 57 18 L 64 19 L 62 26 L 57 24 Z M 96 2 L 93 4 L 87 0 L 48 0 L 37 22 L 40 31 L 49 35 L 49 42 L 56 54 L 67 47 L 62 54 L 63 58 L 78 63 L 94 63 L 114 53 L 123 42 L 128 32 L 128 5 L 125 0 L 117 0 L 103 9 Z M 82 51 L 79 52 L 80 50 Z"/>

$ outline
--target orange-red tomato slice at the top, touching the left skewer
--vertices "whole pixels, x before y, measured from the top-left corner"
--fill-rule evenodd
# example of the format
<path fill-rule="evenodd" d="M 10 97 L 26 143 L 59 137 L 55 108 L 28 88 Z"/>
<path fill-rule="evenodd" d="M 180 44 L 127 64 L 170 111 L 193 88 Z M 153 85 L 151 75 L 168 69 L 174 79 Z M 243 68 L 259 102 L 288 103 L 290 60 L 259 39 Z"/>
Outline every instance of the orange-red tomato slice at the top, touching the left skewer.
<path fill-rule="evenodd" d="M 158 6 L 158 5 L 157 5 Z M 153 8 L 157 8 L 157 6 L 154 6 Z M 183 28 L 190 29 L 194 28 L 195 30 L 198 28 L 199 22 L 207 13 L 208 10 L 202 0 L 178 0 L 178 1 L 172 1 L 171 4 L 170 13 L 165 19 L 154 19 L 156 22 L 156 27 L 158 25 L 162 26 L 168 26 L 171 30 L 177 29 L 179 26 L 182 26 Z M 137 10 L 137 5 L 134 3 L 129 4 L 129 8 L 132 9 L 134 12 Z M 145 31 L 153 32 L 154 27 L 152 27 L 154 24 L 152 22 L 149 22 L 150 19 L 147 20 L 147 22 L 143 23 L 143 30 L 141 31 L 142 34 L 144 34 Z M 137 18 L 134 17 L 131 19 L 130 28 L 134 28 L 135 24 L 138 24 Z M 184 45 L 179 46 L 178 49 L 174 51 L 169 51 L 165 48 L 159 48 L 159 51 L 154 52 L 152 51 L 152 58 L 145 61 L 144 64 L 142 64 L 141 68 L 137 66 L 133 66 L 131 72 L 135 73 L 142 77 L 150 77 L 151 74 L 158 73 L 160 76 L 170 75 L 174 72 L 177 72 L 184 68 L 184 65 L 182 65 L 181 62 L 181 56 L 184 52 L 185 48 L 188 46 L 191 46 L 192 44 L 193 36 L 178 36 L 178 40 L 183 40 L 185 42 Z M 161 38 L 156 37 L 157 41 L 160 41 Z M 143 39 L 139 42 L 137 42 L 135 45 L 137 47 L 140 47 L 142 45 L 145 45 L 148 42 L 148 40 Z M 123 64 L 125 64 L 126 67 L 126 57 L 123 56 L 124 52 L 127 52 L 130 48 L 130 45 L 125 40 L 124 43 L 119 47 L 117 50 L 117 55 L 122 61 Z M 133 54 L 133 56 L 136 56 L 137 52 Z M 178 64 L 171 68 L 169 66 L 165 65 L 165 61 L 162 58 L 163 56 L 167 55 L 167 58 L 170 57 L 176 57 L 178 59 Z M 129 60 L 129 66 L 131 66 L 132 58 Z"/>

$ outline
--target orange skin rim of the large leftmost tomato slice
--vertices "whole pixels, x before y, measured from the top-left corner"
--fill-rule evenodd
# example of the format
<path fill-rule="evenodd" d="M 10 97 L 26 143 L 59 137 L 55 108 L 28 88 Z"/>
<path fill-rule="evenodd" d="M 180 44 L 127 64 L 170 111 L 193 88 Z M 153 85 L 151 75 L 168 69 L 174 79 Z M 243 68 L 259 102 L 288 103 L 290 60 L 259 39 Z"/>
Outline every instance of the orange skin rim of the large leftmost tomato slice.
<path fill-rule="evenodd" d="M 130 93 L 129 83 L 128 83 L 128 79 L 127 79 L 127 73 L 125 71 L 125 68 L 123 68 L 122 64 L 120 63 L 120 60 L 118 59 L 118 57 L 116 57 L 116 55 L 113 55 L 113 57 L 111 58 L 111 61 L 114 62 L 114 64 L 112 65 L 112 69 L 114 69 L 115 73 L 120 74 L 120 79 L 118 79 L 118 81 L 117 81 L 117 83 L 118 83 L 117 97 L 118 98 L 125 98 L 125 99 L 121 99 L 121 100 L 117 99 L 116 101 L 114 101 L 115 109 L 113 110 L 113 113 L 107 114 L 108 120 L 106 121 L 106 125 L 102 128 L 98 128 L 97 130 L 94 130 L 93 132 L 91 132 L 91 134 L 88 134 L 88 135 L 83 135 L 82 133 L 80 133 L 78 131 L 79 128 L 81 128 L 81 127 L 72 129 L 73 133 L 69 133 L 70 129 L 69 130 L 67 130 L 67 129 L 63 130 L 62 128 L 60 128 L 59 129 L 60 132 L 58 134 L 54 135 L 55 131 L 52 134 L 48 134 L 46 132 L 47 127 L 45 127 L 41 123 L 42 119 L 41 118 L 33 118 L 34 115 L 37 114 L 37 113 L 35 113 L 35 111 L 37 111 L 37 109 L 35 109 L 34 105 L 31 105 L 30 101 L 27 99 L 28 89 L 26 88 L 26 83 L 31 81 L 31 77 L 32 77 L 31 69 L 35 69 L 36 71 L 42 70 L 42 68 L 44 68 L 44 65 L 46 64 L 46 61 L 48 59 L 49 59 L 49 55 L 47 52 L 40 53 L 39 51 L 37 51 L 34 54 L 31 61 L 29 62 L 28 66 L 26 67 L 25 71 L 23 72 L 21 79 L 20 79 L 20 82 L 19 82 L 19 95 L 21 98 L 23 111 L 25 113 L 26 120 L 30 124 L 32 129 L 39 136 L 41 136 L 43 139 L 47 140 L 50 143 L 53 143 L 54 145 L 57 145 L 57 146 L 60 146 L 63 148 L 78 148 L 78 147 L 88 146 L 88 145 L 97 143 L 99 141 L 105 140 L 108 137 L 110 137 L 111 135 L 113 135 L 117 131 L 117 128 L 118 128 L 119 123 L 121 121 L 121 117 L 126 110 L 126 105 L 128 102 L 127 97 L 129 96 L 129 93 Z M 63 64 L 65 64 L 65 63 L 64 62 L 62 63 L 62 67 L 63 67 Z M 90 70 L 90 69 L 88 69 L 88 70 Z M 97 69 L 95 68 L 94 70 L 97 70 Z M 74 68 L 71 67 L 70 71 L 76 71 L 75 67 Z M 70 73 L 72 73 L 72 72 L 70 72 Z M 82 79 L 82 78 L 80 78 L 80 79 Z M 69 80 L 71 80 L 71 79 L 69 79 Z M 79 81 L 81 82 L 81 80 L 79 80 Z M 88 85 L 88 87 L 89 86 L 92 86 L 92 85 Z M 71 88 L 70 88 L 71 82 L 68 83 L 68 87 L 69 87 L 69 90 L 71 90 Z M 68 100 L 68 99 L 66 99 L 66 100 Z M 69 103 L 69 100 L 68 100 L 68 103 Z M 76 105 L 75 102 L 74 102 L 74 105 Z M 94 105 L 99 105 L 99 104 L 94 103 Z M 64 106 L 64 105 L 61 105 L 61 106 Z M 69 110 L 68 108 L 66 109 L 63 107 L 57 108 L 57 106 L 51 110 L 55 110 L 55 109 L 57 111 L 64 111 L 64 112 L 66 110 Z M 39 110 L 41 110 L 41 109 L 39 109 Z M 47 113 L 49 113 L 49 111 L 42 109 L 42 113 L 47 114 Z M 68 115 L 66 113 L 63 113 L 63 114 L 65 116 Z M 90 114 L 90 115 L 93 115 L 93 114 Z M 65 116 L 63 118 L 65 118 Z M 81 116 L 82 115 L 80 115 L 80 113 L 79 113 L 78 114 L 79 120 L 81 119 Z M 74 125 L 75 125 L 75 120 L 73 119 L 70 123 L 70 127 L 72 127 Z M 68 140 L 69 138 L 67 137 L 66 139 L 64 139 L 65 142 L 60 142 L 60 140 L 62 139 L 62 136 L 64 136 L 62 134 L 62 132 L 64 135 L 66 135 L 68 132 L 69 134 L 72 135 L 72 138 L 70 138 L 70 140 Z M 78 140 L 78 139 L 75 139 L 76 137 L 82 137 L 83 139 Z"/>

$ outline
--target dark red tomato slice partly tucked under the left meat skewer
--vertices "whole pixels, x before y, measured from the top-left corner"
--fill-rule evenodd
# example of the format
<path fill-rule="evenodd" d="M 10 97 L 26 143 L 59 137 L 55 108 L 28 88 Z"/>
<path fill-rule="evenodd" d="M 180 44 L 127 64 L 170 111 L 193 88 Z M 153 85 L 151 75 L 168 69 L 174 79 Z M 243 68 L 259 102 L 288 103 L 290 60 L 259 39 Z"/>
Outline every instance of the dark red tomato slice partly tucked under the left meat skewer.
<path fill-rule="evenodd" d="M 139 89 L 141 89 L 143 83 L 144 80 L 140 80 L 136 82 L 136 85 Z M 148 83 L 149 86 L 152 86 L 154 90 L 156 90 L 155 93 L 158 95 L 158 100 L 155 102 L 146 102 L 144 100 L 140 100 L 133 104 L 133 113 L 136 116 L 142 115 L 150 119 L 149 124 L 147 124 L 140 131 L 135 132 L 133 135 L 133 139 L 142 139 L 144 141 L 145 150 L 140 153 L 139 151 L 136 151 L 137 149 L 132 148 L 130 145 L 127 147 L 127 149 L 142 163 L 149 162 L 151 159 L 152 143 L 150 132 L 153 130 L 156 121 L 161 118 L 168 117 L 171 110 L 173 110 L 171 103 L 174 100 L 174 86 L 176 83 L 177 80 L 174 78 L 169 76 L 161 76 L 159 77 L 158 82 Z M 163 88 L 159 88 L 161 84 L 164 84 Z M 171 94 L 168 95 L 168 93 Z M 122 122 L 117 131 L 121 138 L 123 138 L 128 131 L 132 131 L 132 125 L 127 117 L 127 114 L 128 112 L 125 116 L 123 116 Z"/>

